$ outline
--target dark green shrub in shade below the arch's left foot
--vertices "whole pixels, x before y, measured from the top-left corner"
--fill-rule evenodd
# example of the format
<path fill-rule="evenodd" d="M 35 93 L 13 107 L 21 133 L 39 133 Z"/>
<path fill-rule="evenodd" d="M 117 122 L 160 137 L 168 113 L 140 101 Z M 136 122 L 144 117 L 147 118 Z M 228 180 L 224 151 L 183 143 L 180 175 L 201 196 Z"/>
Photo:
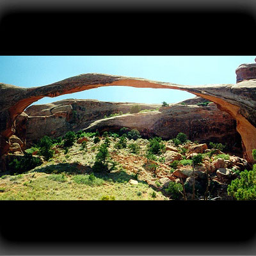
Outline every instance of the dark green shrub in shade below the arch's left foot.
<path fill-rule="evenodd" d="M 24 152 L 24 156 L 18 160 L 14 159 L 10 164 L 11 173 L 23 173 L 40 166 L 42 160 L 39 157 L 33 157 L 31 153 Z"/>

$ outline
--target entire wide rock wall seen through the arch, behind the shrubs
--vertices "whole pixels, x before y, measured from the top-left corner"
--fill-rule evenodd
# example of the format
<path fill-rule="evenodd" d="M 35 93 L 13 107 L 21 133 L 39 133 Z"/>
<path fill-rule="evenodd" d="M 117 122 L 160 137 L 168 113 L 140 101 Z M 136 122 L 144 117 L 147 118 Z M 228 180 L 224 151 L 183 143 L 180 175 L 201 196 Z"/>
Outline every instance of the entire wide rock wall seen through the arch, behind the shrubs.
<path fill-rule="evenodd" d="M 58 138 L 67 131 L 116 131 L 122 127 L 138 129 L 144 138 L 161 136 L 170 140 L 179 132 L 187 134 L 189 140 L 227 143 L 230 148 L 241 147 L 241 136 L 236 131 L 236 120 L 216 104 L 197 106 L 207 100 L 200 97 L 170 104 L 136 104 L 140 109 L 151 109 L 143 113 L 104 118 L 113 113 L 129 113 L 135 103 L 102 102 L 99 100 L 67 99 L 45 105 L 33 105 L 18 116 L 15 134 L 26 140 L 28 147 L 43 136 Z M 157 111 L 156 109 L 159 109 Z M 26 120 L 24 122 L 24 120 Z M 44 129 L 42 129 L 44 127 Z"/>

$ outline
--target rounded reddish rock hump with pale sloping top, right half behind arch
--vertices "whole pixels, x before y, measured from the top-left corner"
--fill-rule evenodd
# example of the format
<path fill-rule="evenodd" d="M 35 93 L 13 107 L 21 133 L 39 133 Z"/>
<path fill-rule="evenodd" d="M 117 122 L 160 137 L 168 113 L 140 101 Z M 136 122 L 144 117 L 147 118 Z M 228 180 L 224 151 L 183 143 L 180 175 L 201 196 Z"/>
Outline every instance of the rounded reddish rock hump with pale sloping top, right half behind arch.
<path fill-rule="evenodd" d="M 195 100 L 200 102 L 200 99 L 197 97 Z M 209 106 L 172 104 L 159 111 L 103 118 L 92 122 L 84 131 L 118 131 L 122 127 L 137 129 L 144 138 L 160 136 L 170 140 L 183 132 L 191 141 L 228 143 L 230 147 L 241 145 L 241 137 L 236 132 L 236 120 L 218 110 L 214 103 Z"/>

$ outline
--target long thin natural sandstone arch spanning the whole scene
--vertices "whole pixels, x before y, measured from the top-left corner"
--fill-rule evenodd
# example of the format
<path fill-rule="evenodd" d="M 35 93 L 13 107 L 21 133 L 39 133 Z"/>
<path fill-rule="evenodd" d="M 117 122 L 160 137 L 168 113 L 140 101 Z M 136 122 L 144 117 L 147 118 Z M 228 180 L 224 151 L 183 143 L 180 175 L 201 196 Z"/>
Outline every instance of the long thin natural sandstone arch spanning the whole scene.
<path fill-rule="evenodd" d="M 111 76 L 106 74 L 82 74 L 63 81 L 34 88 L 20 88 L 0 84 L 0 154 L 8 152 L 9 138 L 15 132 L 15 120 L 31 103 L 43 97 L 81 92 L 100 86 L 133 86 L 137 88 L 165 88 L 184 90 L 211 100 L 220 110 L 226 111 L 237 121 L 241 134 L 244 157 L 253 162 L 252 149 L 256 148 L 256 80 L 241 81 L 237 84 L 208 84 L 186 86 L 151 81 L 143 78 Z"/>

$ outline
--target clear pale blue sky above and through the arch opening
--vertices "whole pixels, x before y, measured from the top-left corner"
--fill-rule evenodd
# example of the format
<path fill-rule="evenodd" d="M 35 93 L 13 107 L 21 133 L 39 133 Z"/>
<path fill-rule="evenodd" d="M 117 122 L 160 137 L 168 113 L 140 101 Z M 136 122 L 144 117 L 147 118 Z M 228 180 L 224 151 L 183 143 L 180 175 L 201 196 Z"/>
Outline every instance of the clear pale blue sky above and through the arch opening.
<path fill-rule="evenodd" d="M 103 73 L 177 84 L 228 84 L 236 83 L 239 65 L 253 63 L 254 59 L 255 56 L 0 56 L 0 82 L 33 87 L 79 74 Z M 34 104 L 61 99 L 160 104 L 191 97 L 194 95 L 179 90 L 113 86 L 45 97 Z"/>

